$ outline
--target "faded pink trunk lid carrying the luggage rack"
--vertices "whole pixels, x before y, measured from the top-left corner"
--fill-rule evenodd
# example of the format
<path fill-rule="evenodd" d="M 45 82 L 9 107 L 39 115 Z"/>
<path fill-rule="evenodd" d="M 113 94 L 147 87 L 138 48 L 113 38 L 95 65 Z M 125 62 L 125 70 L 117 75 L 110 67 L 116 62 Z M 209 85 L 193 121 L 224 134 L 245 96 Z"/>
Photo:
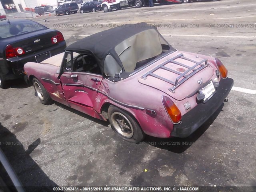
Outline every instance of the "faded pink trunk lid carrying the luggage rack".
<path fill-rule="evenodd" d="M 161 90 L 176 100 L 183 100 L 194 93 L 200 84 L 208 82 L 213 75 L 214 69 L 207 59 L 178 53 L 175 56 L 172 54 L 167 60 L 162 58 L 157 61 L 138 80 L 141 84 Z"/>

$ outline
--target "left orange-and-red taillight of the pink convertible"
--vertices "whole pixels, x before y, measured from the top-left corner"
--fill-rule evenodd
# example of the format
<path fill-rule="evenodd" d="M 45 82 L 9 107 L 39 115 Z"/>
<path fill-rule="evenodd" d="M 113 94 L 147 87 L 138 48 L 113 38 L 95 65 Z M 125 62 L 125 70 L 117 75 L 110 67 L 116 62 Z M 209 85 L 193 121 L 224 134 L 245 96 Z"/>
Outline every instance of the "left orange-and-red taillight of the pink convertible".
<path fill-rule="evenodd" d="M 174 123 L 180 122 L 181 112 L 178 109 L 178 107 L 174 104 L 174 102 L 166 96 L 162 97 L 162 101 L 163 101 L 164 107 L 165 107 L 168 115 L 170 116 L 172 122 L 174 122 Z"/>

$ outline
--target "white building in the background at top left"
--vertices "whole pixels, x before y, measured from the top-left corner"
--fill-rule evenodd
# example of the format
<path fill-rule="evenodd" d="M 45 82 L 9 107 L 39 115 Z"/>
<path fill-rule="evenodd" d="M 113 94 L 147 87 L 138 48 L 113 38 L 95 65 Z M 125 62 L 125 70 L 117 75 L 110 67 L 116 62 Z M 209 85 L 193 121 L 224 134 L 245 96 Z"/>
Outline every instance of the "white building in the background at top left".
<path fill-rule="evenodd" d="M 24 12 L 28 8 L 34 9 L 36 6 L 51 5 L 56 6 L 57 0 L 0 0 L 0 13 Z"/>

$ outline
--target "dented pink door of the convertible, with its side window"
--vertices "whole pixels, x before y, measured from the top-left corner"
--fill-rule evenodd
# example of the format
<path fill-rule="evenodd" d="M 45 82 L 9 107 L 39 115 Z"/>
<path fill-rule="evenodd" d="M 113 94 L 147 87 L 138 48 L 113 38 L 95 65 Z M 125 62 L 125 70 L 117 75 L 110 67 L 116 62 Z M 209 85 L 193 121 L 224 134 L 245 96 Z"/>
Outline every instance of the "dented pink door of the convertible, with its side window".
<path fill-rule="evenodd" d="M 78 52 L 66 52 L 66 62 L 60 76 L 64 97 L 69 102 L 88 109 L 90 114 L 102 81 L 100 68 L 94 56 Z"/>

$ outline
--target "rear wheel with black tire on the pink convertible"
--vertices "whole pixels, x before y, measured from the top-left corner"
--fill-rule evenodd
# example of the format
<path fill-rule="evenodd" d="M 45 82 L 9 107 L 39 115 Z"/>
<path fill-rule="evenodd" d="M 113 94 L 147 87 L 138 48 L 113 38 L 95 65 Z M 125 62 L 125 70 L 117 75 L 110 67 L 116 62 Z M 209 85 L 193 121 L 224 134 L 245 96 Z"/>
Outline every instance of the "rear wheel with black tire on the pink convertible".
<path fill-rule="evenodd" d="M 119 121 L 119 118 L 122 118 L 122 120 Z M 108 108 L 108 120 L 112 129 L 124 140 L 133 143 L 139 143 L 144 140 L 145 133 L 140 128 L 137 120 L 125 110 L 110 105 Z"/>

